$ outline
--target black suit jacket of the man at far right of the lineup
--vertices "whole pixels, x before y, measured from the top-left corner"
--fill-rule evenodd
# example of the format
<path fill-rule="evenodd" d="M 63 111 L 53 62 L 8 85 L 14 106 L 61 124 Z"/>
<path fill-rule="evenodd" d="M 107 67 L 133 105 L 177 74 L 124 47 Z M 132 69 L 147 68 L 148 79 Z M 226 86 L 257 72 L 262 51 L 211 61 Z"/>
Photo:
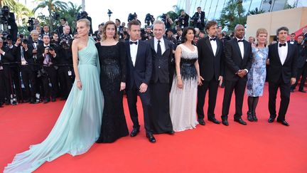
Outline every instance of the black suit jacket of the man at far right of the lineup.
<path fill-rule="evenodd" d="M 279 43 L 269 46 L 269 82 L 277 82 L 281 76 L 284 83 L 290 83 L 296 78 L 298 49 L 296 45 L 288 44 L 288 53 L 284 65 L 281 64 L 278 52 Z"/>

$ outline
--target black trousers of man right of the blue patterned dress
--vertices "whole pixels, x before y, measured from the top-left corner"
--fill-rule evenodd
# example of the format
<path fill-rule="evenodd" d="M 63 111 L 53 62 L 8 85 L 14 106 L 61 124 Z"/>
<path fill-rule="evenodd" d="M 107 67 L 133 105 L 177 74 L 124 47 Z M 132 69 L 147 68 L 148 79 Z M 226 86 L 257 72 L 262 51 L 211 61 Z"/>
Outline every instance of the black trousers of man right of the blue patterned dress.
<path fill-rule="evenodd" d="M 286 111 L 288 110 L 289 102 L 290 102 L 290 88 L 291 83 L 284 83 L 282 77 L 279 77 L 279 80 L 274 83 L 269 81 L 269 112 L 270 117 L 276 117 L 276 95 L 277 90 L 280 90 L 281 102 L 279 106 L 279 116 L 278 120 L 285 120 Z"/>

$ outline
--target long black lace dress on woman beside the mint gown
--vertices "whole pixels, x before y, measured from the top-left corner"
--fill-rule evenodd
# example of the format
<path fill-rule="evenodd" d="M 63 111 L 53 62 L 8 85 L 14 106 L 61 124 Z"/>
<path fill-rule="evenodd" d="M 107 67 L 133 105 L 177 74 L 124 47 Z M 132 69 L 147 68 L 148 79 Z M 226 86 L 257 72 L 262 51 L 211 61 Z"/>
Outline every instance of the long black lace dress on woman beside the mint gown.
<path fill-rule="evenodd" d="M 123 42 L 114 46 L 96 43 L 100 62 L 100 86 L 104 95 L 102 127 L 98 143 L 114 142 L 129 134 L 120 83 L 126 82 L 126 51 Z"/>

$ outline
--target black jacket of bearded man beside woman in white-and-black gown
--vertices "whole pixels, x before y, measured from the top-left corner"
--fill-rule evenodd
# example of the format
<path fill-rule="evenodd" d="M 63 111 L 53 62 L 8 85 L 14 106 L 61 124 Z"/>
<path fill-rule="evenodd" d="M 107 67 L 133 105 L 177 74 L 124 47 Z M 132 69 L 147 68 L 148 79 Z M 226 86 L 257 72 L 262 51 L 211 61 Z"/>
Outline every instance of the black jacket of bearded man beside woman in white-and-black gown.
<path fill-rule="evenodd" d="M 197 44 L 200 75 L 205 81 L 209 81 L 212 78 L 218 80 L 220 75 L 224 75 L 224 46 L 218 38 L 216 42 L 217 52 L 215 56 L 208 36 L 201 38 Z"/>

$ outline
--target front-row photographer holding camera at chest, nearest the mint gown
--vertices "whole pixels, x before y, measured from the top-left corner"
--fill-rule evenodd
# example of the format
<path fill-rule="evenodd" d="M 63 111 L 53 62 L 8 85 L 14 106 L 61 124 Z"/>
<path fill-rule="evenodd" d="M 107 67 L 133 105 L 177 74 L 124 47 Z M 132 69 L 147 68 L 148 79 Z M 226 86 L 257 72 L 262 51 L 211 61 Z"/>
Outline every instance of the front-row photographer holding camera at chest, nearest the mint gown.
<path fill-rule="evenodd" d="M 50 37 L 48 35 L 43 36 L 43 44 L 38 45 L 38 62 L 41 63 L 43 68 L 38 71 L 38 77 L 43 80 L 44 101 L 43 103 L 55 102 L 56 93 L 58 93 L 58 80 L 56 66 L 54 66 L 55 58 L 57 58 L 57 47 L 54 44 L 50 44 Z M 51 82 L 51 88 L 49 86 L 49 80 Z"/>

